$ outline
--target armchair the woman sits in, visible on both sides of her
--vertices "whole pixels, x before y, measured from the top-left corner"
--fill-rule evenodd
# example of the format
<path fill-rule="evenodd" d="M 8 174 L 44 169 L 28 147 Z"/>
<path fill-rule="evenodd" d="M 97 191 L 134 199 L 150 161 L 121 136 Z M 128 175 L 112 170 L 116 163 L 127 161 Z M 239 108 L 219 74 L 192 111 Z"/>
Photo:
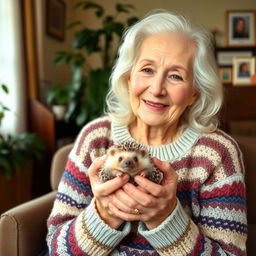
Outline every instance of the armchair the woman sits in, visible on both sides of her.
<path fill-rule="evenodd" d="M 247 241 L 248 256 L 256 253 L 256 138 L 237 137 L 244 154 L 248 198 Z M 1 215 L 0 255 L 36 256 L 46 249 L 46 219 L 48 218 L 57 186 L 72 145 L 59 149 L 52 161 L 51 186 L 53 192 L 17 206 Z"/>

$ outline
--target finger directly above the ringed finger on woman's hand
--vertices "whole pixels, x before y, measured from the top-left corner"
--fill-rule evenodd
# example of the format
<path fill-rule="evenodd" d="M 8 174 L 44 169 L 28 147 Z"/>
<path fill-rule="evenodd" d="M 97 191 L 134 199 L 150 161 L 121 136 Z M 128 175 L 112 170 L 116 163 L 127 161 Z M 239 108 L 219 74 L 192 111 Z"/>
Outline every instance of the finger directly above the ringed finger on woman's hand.
<path fill-rule="evenodd" d="M 137 203 L 145 206 L 145 207 L 151 207 L 155 203 L 155 198 L 153 198 L 150 194 L 147 194 L 141 190 L 139 190 L 137 187 L 130 183 L 126 183 L 123 186 L 124 191 L 133 198 Z M 131 207 L 134 208 L 135 205 L 132 205 Z"/>

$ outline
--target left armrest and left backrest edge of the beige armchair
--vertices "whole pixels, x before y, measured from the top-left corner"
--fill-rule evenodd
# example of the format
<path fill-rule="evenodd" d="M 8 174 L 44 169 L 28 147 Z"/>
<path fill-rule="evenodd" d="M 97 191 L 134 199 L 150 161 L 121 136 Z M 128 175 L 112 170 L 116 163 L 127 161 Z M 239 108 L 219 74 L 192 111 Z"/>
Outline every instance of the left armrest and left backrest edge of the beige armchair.
<path fill-rule="evenodd" d="M 21 204 L 1 215 L 0 255 L 36 256 L 46 245 L 46 220 L 72 145 L 60 148 L 51 164 L 52 192 Z"/>

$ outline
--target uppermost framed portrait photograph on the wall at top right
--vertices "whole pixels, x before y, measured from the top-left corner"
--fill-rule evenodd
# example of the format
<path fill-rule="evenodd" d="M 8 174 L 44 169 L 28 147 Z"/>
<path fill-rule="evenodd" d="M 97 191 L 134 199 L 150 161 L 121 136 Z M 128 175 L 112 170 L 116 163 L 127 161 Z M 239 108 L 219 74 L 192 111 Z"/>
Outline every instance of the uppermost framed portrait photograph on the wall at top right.
<path fill-rule="evenodd" d="M 255 11 L 227 11 L 227 45 L 255 46 Z"/>

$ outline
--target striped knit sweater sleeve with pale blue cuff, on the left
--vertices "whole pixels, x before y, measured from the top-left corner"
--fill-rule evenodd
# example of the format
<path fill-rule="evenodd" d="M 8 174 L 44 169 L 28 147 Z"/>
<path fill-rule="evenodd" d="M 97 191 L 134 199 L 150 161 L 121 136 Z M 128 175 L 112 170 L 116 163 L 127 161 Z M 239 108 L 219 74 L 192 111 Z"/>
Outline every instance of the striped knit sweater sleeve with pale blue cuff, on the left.
<path fill-rule="evenodd" d="M 85 135 L 91 127 L 80 133 L 69 155 L 48 218 L 50 255 L 108 255 L 130 232 L 130 223 L 125 223 L 122 230 L 112 229 L 95 209 L 86 164 L 90 143 L 89 135 Z M 93 132 L 97 132 L 95 127 Z"/>

